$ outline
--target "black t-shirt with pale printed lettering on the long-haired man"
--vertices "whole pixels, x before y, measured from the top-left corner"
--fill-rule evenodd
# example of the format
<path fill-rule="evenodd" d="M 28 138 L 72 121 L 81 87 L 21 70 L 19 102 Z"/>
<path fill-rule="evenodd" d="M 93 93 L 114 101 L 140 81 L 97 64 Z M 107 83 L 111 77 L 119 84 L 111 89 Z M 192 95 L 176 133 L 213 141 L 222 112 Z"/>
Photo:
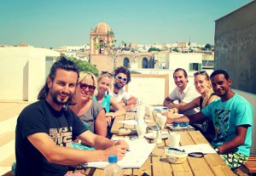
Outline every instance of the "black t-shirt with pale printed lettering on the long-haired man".
<path fill-rule="evenodd" d="M 47 133 L 56 145 L 68 147 L 84 133 L 83 123 L 70 109 L 55 111 L 44 99 L 28 105 L 17 119 L 15 136 L 17 176 L 61 176 L 67 166 L 49 163 L 27 139 L 33 133 Z"/>

